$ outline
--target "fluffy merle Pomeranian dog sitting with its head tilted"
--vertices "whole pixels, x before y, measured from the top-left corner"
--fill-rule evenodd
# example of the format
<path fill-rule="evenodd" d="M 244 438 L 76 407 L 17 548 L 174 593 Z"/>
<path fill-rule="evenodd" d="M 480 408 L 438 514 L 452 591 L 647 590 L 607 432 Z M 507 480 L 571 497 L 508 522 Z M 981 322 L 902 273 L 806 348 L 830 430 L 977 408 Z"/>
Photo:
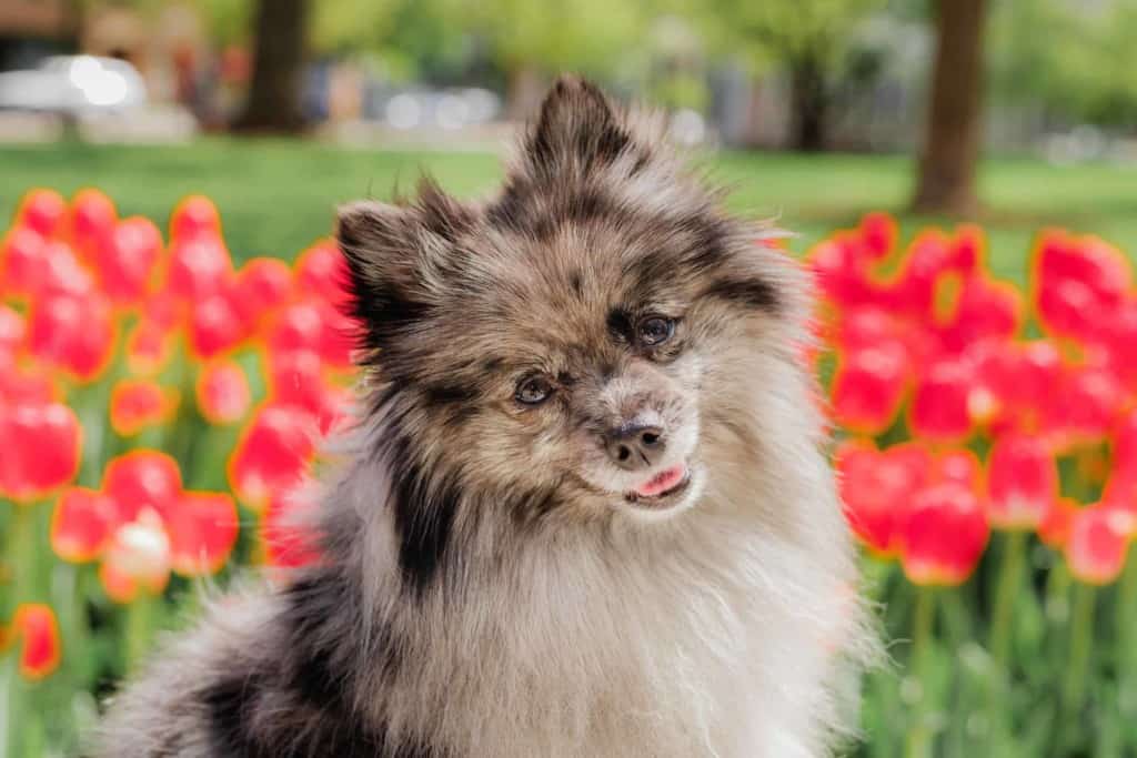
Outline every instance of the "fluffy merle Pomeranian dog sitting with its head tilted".
<path fill-rule="evenodd" d="M 563 77 L 491 199 L 341 208 L 322 559 L 171 639 L 96 755 L 832 755 L 873 644 L 807 277 L 722 198 Z"/>

